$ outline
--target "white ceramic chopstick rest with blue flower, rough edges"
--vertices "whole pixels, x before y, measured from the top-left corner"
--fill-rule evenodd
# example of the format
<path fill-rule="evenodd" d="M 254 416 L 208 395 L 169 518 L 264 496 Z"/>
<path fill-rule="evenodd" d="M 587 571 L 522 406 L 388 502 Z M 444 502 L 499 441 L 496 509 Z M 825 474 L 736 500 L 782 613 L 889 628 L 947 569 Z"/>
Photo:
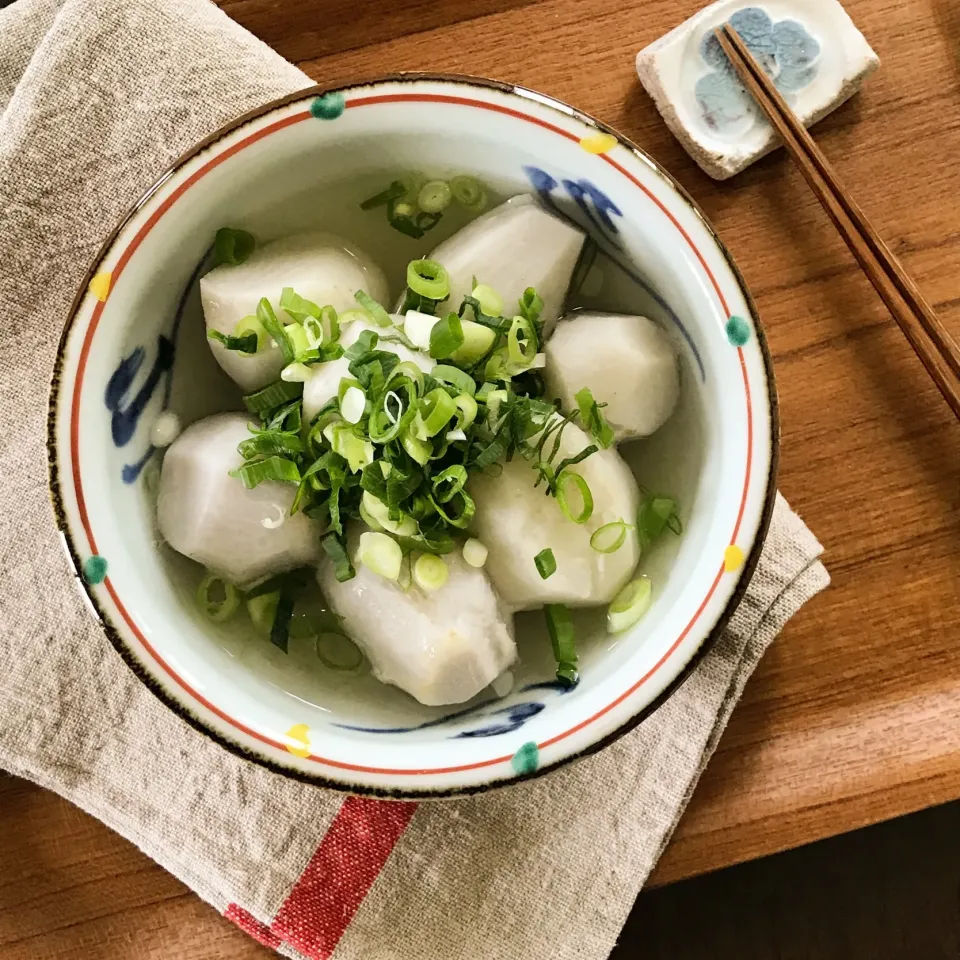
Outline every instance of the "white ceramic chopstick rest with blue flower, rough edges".
<path fill-rule="evenodd" d="M 778 141 L 713 31 L 729 20 L 806 126 L 853 96 L 880 60 L 837 0 L 720 0 L 637 54 L 637 74 L 687 153 L 716 180 Z"/>

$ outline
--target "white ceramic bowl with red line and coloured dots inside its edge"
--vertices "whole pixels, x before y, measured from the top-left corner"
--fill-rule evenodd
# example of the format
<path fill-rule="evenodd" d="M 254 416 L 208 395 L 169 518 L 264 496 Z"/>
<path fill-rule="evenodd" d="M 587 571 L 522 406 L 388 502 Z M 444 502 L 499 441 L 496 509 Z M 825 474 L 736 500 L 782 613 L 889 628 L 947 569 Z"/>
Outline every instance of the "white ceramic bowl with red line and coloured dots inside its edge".
<path fill-rule="evenodd" d="M 491 194 L 533 192 L 608 259 L 600 302 L 670 332 L 682 400 L 622 452 L 645 486 L 676 495 L 685 532 L 643 560 L 655 600 L 610 637 L 577 615 L 580 683 L 553 679 L 542 615 L 517 618 L 521 662 L 503 698 L 429 708 L 371 676 L 284 655 L 193 602 L 199 567 L 158 539 L 153 493 L 163 410 L 188 423 L 236 409 L 211 358 L 197 277 L 215 230 L 266 240 L 316 227 L 380 260 L 395 295 L 423 241 L 359 202 L 398 171 L 469 172 Z M 449 221 L 449 222 L 448 222 Z M 462 221 L 460 221 L 462 222 Z M 750 297 L 681 188 L 637 147 L 550 97 L 459 77 L 403 75 L 307 90 L 198 145 L 116 229 L 63 334 L 50 416 L 51 485 L 83 595 L 117 651 L 172 710 L 228 749 L 351 792 L 442 797 L 542 774 L 634 726 L 692 669 L 756 562 L 774 496 L 775 393 Z"/>

